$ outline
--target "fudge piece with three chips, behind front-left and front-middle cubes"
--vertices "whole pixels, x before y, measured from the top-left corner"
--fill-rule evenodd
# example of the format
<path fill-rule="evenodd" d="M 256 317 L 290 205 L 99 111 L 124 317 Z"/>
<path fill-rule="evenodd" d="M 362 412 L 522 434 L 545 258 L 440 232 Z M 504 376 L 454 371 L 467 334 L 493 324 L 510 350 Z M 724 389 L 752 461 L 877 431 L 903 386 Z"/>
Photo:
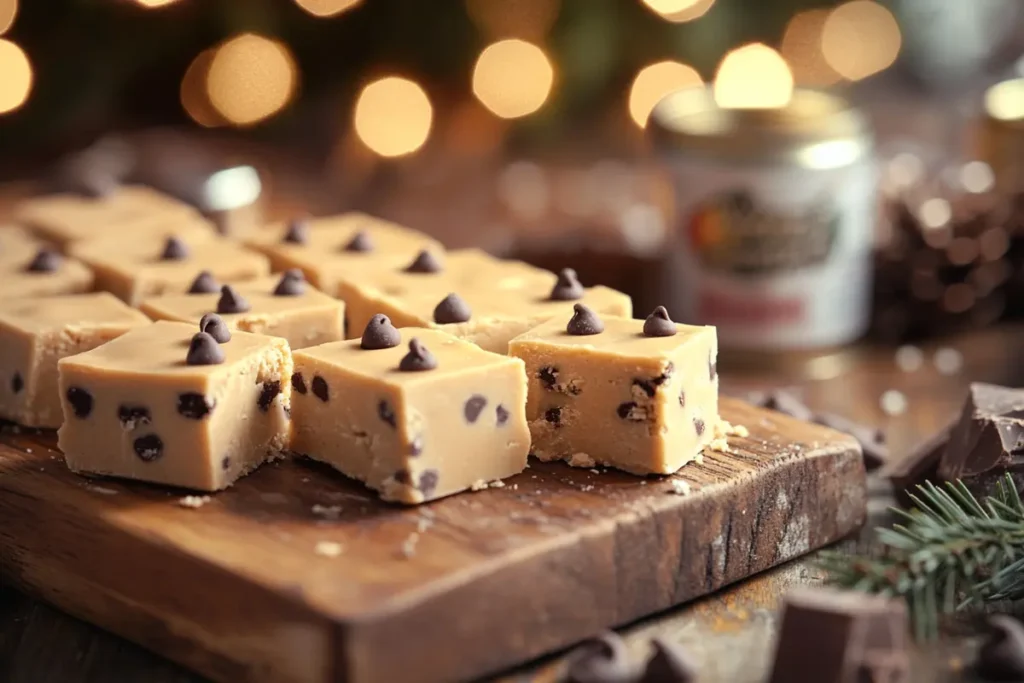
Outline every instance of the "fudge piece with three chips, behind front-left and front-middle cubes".
<path fill-rule="evenodd" d="M 212 293 L 168 294 L 142 302 L 140 309 L 155 321 L 199 325 L 210 312 L 219 313 L 232 330 L 284 337 L 293 349 L 344 339 L 345 304 L 327 296 L 303 279 L 301 270 L 286 270 Z"/>

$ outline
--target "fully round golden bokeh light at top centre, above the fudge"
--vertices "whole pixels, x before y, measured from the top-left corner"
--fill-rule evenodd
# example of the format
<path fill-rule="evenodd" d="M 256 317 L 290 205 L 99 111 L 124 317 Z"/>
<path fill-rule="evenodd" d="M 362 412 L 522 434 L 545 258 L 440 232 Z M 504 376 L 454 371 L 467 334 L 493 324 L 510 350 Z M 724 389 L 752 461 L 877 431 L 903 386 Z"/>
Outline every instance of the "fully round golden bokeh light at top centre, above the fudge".
<path fill-rule="evenodd" d="M 551 93 L 555 71 L 537 45 L 512 38 L 483 48 L 473 67 L 473 94 L 503 119 L 541 109 Z"/>

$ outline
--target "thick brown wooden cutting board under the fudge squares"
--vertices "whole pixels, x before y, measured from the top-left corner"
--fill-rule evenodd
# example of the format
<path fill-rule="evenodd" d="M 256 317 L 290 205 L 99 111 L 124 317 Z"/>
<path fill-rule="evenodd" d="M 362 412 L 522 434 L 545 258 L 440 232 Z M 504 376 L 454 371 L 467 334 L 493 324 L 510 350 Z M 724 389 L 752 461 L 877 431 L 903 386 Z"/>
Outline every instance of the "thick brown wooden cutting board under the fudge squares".
<path fill-rule="evenodd" d="M 672 477 L 531 462 L 414 509 L 309 461 L 189 508 L 185 492 L 72 474 L 52 434 L 8 427 L 0 577 L 216 681 L 470 679 L 862 523 L 853 439 L 734 399 L 722 414 L 750 437 Z"/>

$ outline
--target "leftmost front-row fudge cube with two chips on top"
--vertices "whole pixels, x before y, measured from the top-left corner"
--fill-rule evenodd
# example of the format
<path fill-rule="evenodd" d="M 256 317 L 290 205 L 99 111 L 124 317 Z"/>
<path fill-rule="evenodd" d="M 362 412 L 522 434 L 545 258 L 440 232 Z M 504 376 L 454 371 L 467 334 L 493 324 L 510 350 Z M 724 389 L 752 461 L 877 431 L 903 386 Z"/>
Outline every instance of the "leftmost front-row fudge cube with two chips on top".
<path fill-rule="evenodd" d="M 73 470 L 218 490 L 288 446 L 284 339 L 161 321 L 57 367 Z"/>

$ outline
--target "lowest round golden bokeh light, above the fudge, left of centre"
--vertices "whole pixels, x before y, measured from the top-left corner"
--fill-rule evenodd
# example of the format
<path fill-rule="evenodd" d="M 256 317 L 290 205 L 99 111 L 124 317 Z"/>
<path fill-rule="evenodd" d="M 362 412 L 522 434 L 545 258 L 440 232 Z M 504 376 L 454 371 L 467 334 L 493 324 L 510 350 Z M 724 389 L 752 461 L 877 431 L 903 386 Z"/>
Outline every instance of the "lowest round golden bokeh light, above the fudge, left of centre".
<path fill-rule="evenodd" d="M 423 146 L 433 118 L 423 88 L 397 76 L 374 81 L 355 102 L 355 133 L 382 157 L 401 157 Z"/>

